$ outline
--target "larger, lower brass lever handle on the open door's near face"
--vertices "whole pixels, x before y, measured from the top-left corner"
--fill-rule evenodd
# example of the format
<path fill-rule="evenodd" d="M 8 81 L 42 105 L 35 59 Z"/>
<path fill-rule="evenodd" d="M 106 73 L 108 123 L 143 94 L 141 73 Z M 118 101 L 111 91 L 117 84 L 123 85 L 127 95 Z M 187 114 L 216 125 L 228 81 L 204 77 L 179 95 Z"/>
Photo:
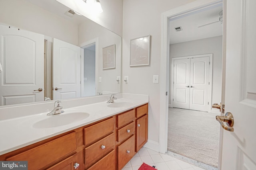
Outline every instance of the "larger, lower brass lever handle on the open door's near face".
<path fill-rule="evenodd" d="M 234 117 L 232 113 L 227 112 L 224 116 L 216 116 L 216 120 L 220 122 L 220 125 L 223 127 L 223 129 L 231 132 L 234 131 Z M 226 122 L 226 125 L 224 125 L 223 122 Z"/>

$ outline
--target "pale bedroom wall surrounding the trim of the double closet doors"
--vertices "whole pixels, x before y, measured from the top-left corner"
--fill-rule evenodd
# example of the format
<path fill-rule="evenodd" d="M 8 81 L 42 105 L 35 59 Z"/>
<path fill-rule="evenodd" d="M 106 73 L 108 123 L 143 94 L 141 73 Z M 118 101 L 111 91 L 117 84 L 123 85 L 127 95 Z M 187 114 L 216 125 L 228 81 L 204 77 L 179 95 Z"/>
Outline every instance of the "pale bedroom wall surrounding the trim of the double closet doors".
<path fill-rule="evenodd" d="M 170 45 L 170 66 L 172 65 L 172 58 L 183 57 L 190 55 L 200 54 L 213 54 L 212 64 L 212 104 L 221 102 L 221 89 L 222 89 L 222 36 L 211 37 L 206 39 L 199 39 L 195 41 L 188 41 L 184 43 L 177 43 Z M 170 81 L 173 73 L 170 69 Z M 171 92 L 171 89 L 169 89 Z M 169 95 L 169 104 L 172 99 Z M 212 105 L 210 104 L 210 105 Z M 218 109 L 214 109 L 218 111 Z"/>

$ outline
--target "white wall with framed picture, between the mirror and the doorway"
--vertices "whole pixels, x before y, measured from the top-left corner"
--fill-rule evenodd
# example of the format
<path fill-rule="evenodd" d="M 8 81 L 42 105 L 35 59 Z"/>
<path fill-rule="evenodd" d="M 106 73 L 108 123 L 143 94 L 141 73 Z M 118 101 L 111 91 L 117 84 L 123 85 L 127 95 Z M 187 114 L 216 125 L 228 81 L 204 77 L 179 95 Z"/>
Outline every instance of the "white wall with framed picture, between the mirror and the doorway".
<path fill-rule="evenodd" d="M 160 84 L 153 84 L 153 75 L 160 75 L 161 14 L 194 0 L 124 0 L 122 76 L 129 83 L 122 84 L 122 92 L 149 95 L 148 139 L 158 145 L 160 116 Z M 149 66 L 130 67 L 130 39 L 151 35 Z M 161 79 L 161 75 L 159 80 Z"/>

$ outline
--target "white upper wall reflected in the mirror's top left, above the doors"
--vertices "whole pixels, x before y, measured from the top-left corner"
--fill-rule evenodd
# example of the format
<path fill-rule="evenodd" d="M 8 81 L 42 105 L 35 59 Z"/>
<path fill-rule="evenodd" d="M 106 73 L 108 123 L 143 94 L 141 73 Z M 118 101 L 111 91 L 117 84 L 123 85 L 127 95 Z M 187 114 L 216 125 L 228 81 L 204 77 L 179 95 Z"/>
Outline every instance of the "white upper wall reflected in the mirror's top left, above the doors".
<path fill-rule="evenodd" d="M 0 0 L 0 23 L 78 44 L 78 25 L 24 0 Z"/>

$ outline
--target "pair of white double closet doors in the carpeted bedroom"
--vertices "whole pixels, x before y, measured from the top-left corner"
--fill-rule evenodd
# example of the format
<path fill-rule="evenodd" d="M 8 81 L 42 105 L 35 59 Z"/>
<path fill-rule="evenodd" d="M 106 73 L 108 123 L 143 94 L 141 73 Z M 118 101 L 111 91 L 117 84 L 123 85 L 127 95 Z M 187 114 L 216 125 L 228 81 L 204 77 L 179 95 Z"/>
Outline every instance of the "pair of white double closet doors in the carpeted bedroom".
<path fill-rule="evenodd" d="M 173 60 L 173 107 L 208 111 L 211 56 Z"/>

